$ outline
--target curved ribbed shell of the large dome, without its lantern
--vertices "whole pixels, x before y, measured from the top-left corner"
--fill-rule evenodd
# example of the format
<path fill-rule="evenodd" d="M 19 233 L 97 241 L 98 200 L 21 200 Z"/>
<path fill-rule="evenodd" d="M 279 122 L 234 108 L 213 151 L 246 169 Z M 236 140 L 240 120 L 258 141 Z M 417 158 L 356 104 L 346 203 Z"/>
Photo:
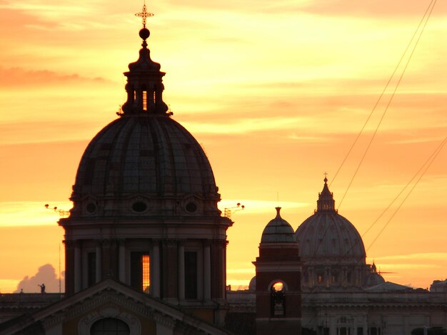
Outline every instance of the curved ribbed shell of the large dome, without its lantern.
<path fill-rule="evenodd" d="M 124 115 L 89 143 L 79 163 L 71 200 L 75 206 L 86 197 L 90 202 L 129 197 L 139 197 L 144 203 L 165 200 L 154 205 L 165 211 L 184 206 L 191 214 L 199 207 L 219 211 L 217 191 L 209 160 L 188 130 L 166 115 Z M 212 200 L 211 205 L 203 200 Z M 117 204 L 104 206 L 116 210 Z"/>

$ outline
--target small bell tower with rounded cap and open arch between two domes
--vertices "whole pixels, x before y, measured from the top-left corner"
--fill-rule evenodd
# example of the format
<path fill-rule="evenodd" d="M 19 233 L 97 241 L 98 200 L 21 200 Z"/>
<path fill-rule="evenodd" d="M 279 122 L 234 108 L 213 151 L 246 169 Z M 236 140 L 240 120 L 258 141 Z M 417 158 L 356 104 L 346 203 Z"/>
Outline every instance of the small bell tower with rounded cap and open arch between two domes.
<path fill-rule="evenodd" d="M 280 215 L 268 222 L 256 267 L 256 334 L 301 334 L 301 260 L 293 228 Z"/>

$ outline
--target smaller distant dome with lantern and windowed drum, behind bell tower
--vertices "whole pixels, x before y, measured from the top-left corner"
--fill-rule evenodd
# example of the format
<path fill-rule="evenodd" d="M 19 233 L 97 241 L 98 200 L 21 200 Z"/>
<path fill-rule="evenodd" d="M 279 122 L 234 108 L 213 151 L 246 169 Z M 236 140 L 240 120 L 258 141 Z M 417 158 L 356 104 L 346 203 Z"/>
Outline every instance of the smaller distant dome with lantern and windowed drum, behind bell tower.
<path fill-rule="evenodd" d="M 360 289 L 368 285 L 371 265 L 356 227 L 335 209 L 328 180 L 318 194 L 317 209 L 296 230 L 303 260 L 303 289 Z"/>

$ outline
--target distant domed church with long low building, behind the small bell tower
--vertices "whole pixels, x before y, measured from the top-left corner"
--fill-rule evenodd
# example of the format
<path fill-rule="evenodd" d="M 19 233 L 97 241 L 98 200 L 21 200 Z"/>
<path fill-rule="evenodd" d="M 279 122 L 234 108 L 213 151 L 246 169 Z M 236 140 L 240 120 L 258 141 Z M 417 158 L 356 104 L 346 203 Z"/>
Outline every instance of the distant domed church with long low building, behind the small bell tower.
<path fill-rule="evenodd" d="M 447 329 L 447 282 L 433 282 L 430 291 L 386 282 L 376 264 L 366 264 L 361 236 L 338 214 L 327 181 L 315 212 L 296 230 L 302 334 L 410 335 Z M 278 268 L 284 264 L 277 262 Z M 229 315 L 239 314 L 251 324 L 246 334 L 256 334 L 258 277 L 256 272 L 248 290 L 227 292 Z"/>

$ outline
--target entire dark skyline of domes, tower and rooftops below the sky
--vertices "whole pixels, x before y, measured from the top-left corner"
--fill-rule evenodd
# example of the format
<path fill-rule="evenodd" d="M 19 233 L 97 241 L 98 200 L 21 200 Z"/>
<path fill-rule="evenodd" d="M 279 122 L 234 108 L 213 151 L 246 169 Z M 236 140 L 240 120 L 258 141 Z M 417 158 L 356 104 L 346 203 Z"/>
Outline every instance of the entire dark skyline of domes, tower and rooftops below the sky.
<path fill-rule="evenodd" d="M 266 225 L 250 289 L 226 289 L 233 222 L 196 139 L 163 99 L 142 48 L 129 64 L 119 118 L 87 146 L 59 225 L 65 294 L 1 294 L 0 334 L 403 335 L 446 327 L 447 284 L 432 292 L 385 282 L 327 179 L 296 232 L 280 209 Z"/>

